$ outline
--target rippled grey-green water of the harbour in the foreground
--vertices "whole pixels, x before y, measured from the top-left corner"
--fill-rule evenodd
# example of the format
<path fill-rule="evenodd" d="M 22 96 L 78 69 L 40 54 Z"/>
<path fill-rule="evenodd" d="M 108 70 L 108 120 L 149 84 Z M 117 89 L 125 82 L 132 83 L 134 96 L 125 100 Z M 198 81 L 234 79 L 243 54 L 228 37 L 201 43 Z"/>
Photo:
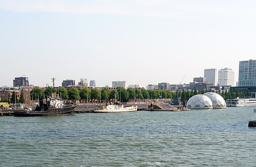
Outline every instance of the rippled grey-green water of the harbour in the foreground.
<path fill-rule="evenodd" d="M 255 166 L 255 107 L 0 117 L 0 166 Z"/>

